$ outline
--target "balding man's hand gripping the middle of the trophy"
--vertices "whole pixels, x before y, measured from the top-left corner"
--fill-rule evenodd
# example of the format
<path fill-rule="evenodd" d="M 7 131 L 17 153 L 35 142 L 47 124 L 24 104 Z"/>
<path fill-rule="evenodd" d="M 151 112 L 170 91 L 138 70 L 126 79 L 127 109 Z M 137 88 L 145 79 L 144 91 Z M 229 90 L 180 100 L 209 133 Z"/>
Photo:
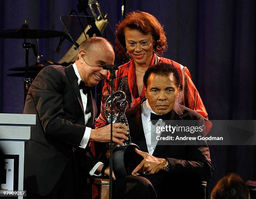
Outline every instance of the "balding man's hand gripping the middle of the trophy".
<path fill-rule="evenodd" d="M 128 140 L 126 135 L 129 134 L 125 129 L 127 129 L 127 127 L 123 124 L 113 123 L 113 142 L 123 146 L 123 141 Z M 92 129 L 90 141 L 110 142 L 110 124 L 99 129 Z"/>

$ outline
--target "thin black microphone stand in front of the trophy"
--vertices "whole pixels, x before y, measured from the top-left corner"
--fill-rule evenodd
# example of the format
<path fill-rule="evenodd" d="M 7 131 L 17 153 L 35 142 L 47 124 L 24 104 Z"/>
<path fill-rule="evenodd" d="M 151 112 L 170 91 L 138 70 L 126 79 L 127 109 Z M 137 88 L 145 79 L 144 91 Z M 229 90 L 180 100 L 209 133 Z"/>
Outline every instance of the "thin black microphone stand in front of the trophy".
<path fill-rule="evenodd" d="M 113 178 L 112 178 L 112 173 L 113 173 L 113 90 L 114 90 L 114 79 L 116 78 L 115 76 L 115 70 L 118 69 L 118 66 L 116 65 L 105 65 L 103 66 L 103 69 L 110 70 L 110 87 L 111 87 L 111 103 L 110 103 L 110 159 L 109 159 L 109 199 L 112 199 L 112 187 L 113 187 Z"/>

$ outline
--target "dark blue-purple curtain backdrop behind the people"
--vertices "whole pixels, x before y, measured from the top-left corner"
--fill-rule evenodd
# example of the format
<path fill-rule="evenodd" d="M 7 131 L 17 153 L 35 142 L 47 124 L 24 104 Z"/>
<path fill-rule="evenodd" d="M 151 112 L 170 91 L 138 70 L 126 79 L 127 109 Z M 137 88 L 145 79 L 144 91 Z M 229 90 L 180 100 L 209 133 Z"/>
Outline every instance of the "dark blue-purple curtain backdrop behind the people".
<path fill-rule="evenodd" d="M 115 30 L 122 1 L 99 3 Z M 19 28 L 26 19 L 30 28 L 63 31 L 59 17 L 71 10 L 77 10 L 77 0 L 1 0 L 0 29 Z M 151 13 L 164 26 L 169 46 L 164 57 L 189 68 L 211 120 L 256 118 L 254 0 L 126 0 L 126 13 L 131 10 Z M 40 39 L 42 60 L 59 61 L 71 46 L 64 41 L 56 54 L 58 42 L 59 38 Z M 22 78 L 7 77 L 8 69 L 25 65 L 22 43 L 22 39 L 0 38 L 2 113 L 23 112 Z M 34 64 L 32 51 L 29 56 L 29 65 Z M 207 185 L 210 191 L 229 172 L 245 181 L 256 180 L 255 146 L 210 146 L 210 150 L 215 166 Z"/>

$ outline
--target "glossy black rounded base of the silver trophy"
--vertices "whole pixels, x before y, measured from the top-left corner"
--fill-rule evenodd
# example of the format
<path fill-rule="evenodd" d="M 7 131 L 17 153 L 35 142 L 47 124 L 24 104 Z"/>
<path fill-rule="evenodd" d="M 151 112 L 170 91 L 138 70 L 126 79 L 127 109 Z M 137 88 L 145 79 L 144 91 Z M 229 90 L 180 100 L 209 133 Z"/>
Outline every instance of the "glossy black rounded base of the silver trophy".
<path fill-rule="evenodd" d="M 116 179 L 131 175 L 131 172 L 143 160 L 143 157 L 135 152 L 135 148 L 140 150 L 134 143 L 114 148 L 113 171 Z"/>

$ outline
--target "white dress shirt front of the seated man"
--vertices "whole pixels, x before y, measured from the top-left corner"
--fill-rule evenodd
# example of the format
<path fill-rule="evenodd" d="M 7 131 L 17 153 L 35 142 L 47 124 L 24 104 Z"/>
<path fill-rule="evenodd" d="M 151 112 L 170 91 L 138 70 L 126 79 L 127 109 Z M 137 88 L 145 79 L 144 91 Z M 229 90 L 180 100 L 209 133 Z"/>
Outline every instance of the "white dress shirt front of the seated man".
<path fill-rule="evenodd" d="M 148 153 L 152 155 L 154 153 L 154 150 L 157 145 L 155 126 L 156 125 L 164 126 L 165 122 L 163 120 L 159 119 L 156 122 L 156 125 L 153 125 L 150 120 L 151 112 L 156 114 L 151 109 L 150 105 L 148 104 L 148 99 L 147 99 L 146 101 L 141 103 L 141 120 L 142 120 L 142 125 L 143 125 L 143 131 L 144 131 L 145 138 L 146 138 Z M 156 115 L 158 115 L 158 114 L 156 114 Z"/>

